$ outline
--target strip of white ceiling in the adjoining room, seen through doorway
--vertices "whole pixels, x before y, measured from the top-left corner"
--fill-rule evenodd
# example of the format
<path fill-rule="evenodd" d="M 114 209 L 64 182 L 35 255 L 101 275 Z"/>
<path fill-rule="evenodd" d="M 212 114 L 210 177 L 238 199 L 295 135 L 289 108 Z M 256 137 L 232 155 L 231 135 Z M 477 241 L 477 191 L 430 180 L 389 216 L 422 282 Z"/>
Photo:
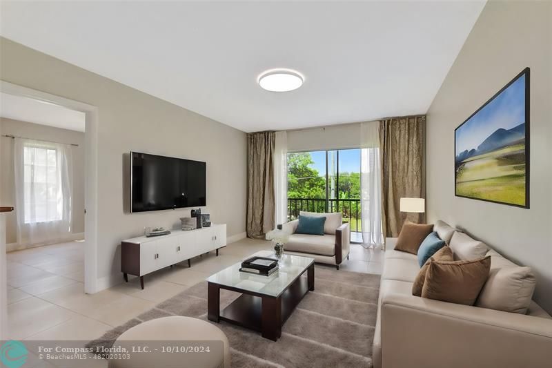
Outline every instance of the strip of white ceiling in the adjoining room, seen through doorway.
<path fill-rule="evenodd" d="M 6 93 L 0 93 L 0 117 L 79 132 L 84 131 L 86 119 L 80 111 Z"/>

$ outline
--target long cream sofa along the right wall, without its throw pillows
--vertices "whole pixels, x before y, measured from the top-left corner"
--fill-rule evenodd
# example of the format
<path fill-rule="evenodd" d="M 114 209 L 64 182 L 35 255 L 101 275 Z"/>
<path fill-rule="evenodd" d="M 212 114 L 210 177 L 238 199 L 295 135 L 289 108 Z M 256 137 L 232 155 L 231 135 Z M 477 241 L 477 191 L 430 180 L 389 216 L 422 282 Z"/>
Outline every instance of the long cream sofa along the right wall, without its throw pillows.
<path fill-rule="evenodd" d="M 433 230 L 447 243 L 455 233 L 444 222 Z M 373 340 L 375 368 L 552 367 L 552 318 L 537 303 L 528 299 L 522 314 L 413 296 L 420 266 L 416 255 L 394 249 L 396 241 L 386 240 Z M 493 249 L 486 254 L 491 255 L 491 272 L 516 267 Z M 495 298 L 515 301 L 516 296 Z"/>

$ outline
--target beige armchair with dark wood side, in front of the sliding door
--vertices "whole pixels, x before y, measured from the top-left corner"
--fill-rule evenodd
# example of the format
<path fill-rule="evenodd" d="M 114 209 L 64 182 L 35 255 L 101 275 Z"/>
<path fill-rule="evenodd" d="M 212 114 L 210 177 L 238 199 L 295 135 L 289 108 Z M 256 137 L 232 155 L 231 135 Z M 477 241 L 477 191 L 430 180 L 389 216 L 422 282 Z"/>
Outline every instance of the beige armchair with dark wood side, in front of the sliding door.
<path fill-rule="evenodd" d="M 299 220 L 286 222 L 282 229 L 291 235 L 284 245 L 284 253 L 311 257 L 315 262 L 334 264 L 339 269 L 339 264 L 348 259 L 351 249 L 349 224 L 342 224 L 342 214 L 301 211 L 299 215 L 326 217 L 324 235 L 297 234 Z"/>

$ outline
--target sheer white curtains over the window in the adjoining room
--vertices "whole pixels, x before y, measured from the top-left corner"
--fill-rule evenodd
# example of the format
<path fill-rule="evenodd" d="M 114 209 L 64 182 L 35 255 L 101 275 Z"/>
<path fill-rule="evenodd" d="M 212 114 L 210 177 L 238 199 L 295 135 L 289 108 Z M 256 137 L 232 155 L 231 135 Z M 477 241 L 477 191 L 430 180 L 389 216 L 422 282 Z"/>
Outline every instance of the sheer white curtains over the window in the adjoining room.
<path fill-rule="evenodd" d="M 14 174 L 18 244 L 66 238 L 72 220 L 71 146 L 16 138 Z"/>

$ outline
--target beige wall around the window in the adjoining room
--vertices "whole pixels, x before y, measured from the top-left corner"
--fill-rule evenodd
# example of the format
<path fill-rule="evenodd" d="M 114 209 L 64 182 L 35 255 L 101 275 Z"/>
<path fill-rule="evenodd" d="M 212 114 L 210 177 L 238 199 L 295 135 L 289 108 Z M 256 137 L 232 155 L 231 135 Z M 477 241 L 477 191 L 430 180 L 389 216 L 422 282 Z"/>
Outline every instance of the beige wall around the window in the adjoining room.
<path fill-rule="evenodd" d="M 72 146 L 73 157 L 73 200 L 72 200 L 72 233 L 84 232 L 84 133 L 75 130 L 54 128 L 52 126 L 20 122 L 13 119 L 0 118 L 0 131 L 3 135 L 14 135 L 30 139 L 44 139 L 60 143 L 78 144 Z M 0 165 L 0 203 L 5 206 L 15 206 L 13 139 L 2 139 Z M 17 242 L 15 213 L 6 215 L 6 243 Z"/>

